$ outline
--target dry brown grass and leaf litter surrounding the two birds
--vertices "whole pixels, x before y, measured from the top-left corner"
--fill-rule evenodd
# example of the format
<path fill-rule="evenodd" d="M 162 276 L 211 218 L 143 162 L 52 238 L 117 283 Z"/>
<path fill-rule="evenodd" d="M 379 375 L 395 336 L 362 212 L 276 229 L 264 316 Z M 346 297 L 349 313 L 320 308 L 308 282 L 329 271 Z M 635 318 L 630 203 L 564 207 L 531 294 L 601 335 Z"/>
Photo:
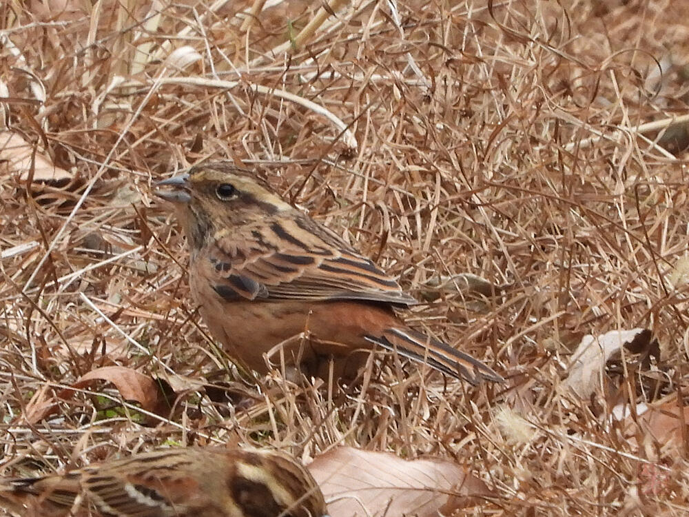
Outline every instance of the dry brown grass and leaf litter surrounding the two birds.
<path fill-rule="evenodd" d="M 689 8 L 322 5 L 0 4 L 3 473 L 352 445 L 465 465 L 485 486 L 448 514 L 686 514 Z M 227 158 L 400 275 L 424 301 L 409 321 L 506 383 L 389 360 L 345 392 L 238 372 L 150 193 Z M 635 346 L 608 334 L 635 328 Z M 577 363 L 585 334 L 609 346 Z"/>

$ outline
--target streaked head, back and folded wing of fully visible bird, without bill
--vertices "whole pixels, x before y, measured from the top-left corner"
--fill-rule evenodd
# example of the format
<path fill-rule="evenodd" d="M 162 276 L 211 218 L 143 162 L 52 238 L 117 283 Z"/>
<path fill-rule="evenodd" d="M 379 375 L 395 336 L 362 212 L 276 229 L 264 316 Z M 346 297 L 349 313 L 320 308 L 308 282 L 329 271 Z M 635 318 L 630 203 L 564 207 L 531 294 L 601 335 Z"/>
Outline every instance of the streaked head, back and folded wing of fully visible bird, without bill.
<path fill-rule="evenodd" d="M 216 196 L 225 183 L 236 188 L 235 199 Z M 227 298 L 416 303 L 371 260 L 249 170 L 229 163 L 198 166 L 189 172 L 189 193 L 192 201 L 181 209 L 187 210 L 187 234 L 206 236 L 192 263 L 209 256 L 202 267 Z"/>

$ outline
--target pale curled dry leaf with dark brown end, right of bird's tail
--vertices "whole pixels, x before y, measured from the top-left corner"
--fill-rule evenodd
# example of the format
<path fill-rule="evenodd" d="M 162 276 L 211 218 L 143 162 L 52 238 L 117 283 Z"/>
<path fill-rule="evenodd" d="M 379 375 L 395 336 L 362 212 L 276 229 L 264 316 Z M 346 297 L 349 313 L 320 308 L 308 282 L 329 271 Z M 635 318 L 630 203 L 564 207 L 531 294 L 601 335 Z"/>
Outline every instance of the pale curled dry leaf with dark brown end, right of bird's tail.
<path fill-rule="evenodd" d="M 651 332 L 646 329 L 613 330 L 598 337 L 587 334 L 572 355 L 564 385 L 586 398 L 601 386 L 610 356 L 623 346 L 640 351 L 650 343 Z"/>

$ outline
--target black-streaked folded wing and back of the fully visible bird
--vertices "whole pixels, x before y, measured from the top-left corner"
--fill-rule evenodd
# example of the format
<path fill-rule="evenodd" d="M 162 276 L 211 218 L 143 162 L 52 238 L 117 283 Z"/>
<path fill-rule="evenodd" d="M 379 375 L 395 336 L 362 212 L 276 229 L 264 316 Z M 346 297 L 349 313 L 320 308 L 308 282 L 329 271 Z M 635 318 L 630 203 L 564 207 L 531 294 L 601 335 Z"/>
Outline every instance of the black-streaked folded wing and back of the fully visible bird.
<path fill-rule="evenodd" d="M 400 285 L 339 236 L 307 217 L 222 230 L 200 264 L 228 300 L 364 300 L 413 305 Z"/>

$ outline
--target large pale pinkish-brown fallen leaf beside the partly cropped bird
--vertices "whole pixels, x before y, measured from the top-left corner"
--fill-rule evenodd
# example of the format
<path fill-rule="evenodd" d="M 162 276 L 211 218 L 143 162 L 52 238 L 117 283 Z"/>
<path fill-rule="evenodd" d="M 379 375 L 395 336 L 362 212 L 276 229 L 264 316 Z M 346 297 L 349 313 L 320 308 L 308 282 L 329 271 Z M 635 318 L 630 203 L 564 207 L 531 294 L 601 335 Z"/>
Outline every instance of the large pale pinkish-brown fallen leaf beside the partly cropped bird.
<path fill-rule="evenodd" d="M 338 447 L 309 471 L 329 502 L 331 517 L 438 516 L 495 496 L 467 469 L 443 459 L 403 460 L 389 452 Z"/>

